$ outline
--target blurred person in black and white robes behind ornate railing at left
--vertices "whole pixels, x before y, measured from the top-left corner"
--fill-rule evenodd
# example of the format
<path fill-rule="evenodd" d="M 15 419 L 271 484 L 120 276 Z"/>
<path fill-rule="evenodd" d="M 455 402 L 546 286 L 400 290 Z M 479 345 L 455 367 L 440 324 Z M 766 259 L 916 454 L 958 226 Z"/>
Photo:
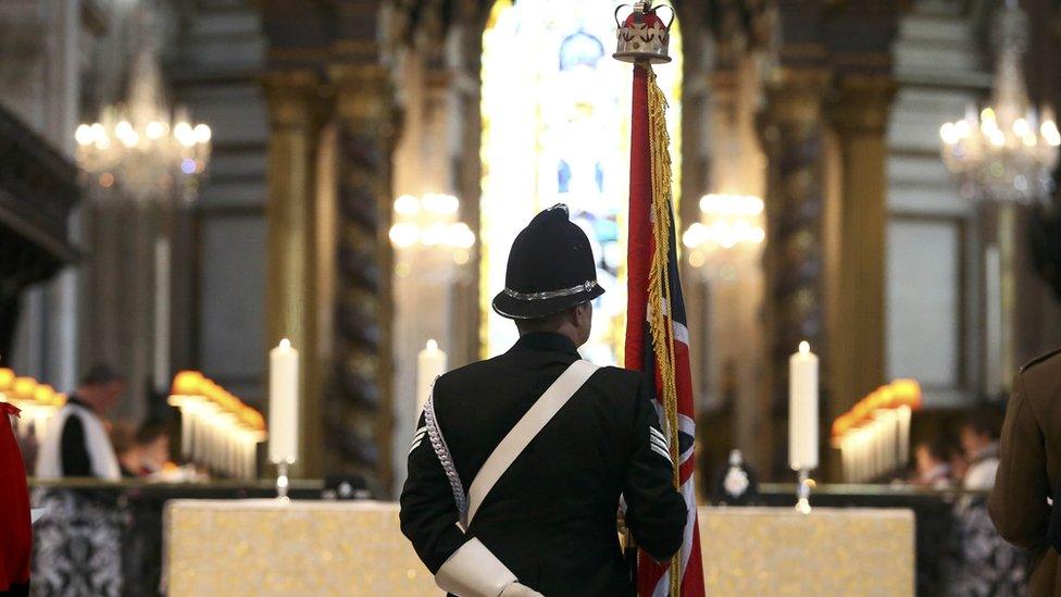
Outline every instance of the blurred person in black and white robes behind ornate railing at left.
<path fill-rule="evenodd" d="M 37 455 L 42 478 L 120 481 L 107 412 L 125 393 L 114 369 L 97 364 L 52 418 Z M 113 488 L 43 488 L 35 493 L 47 515 L 35 528 L 34 594 L 117 597 L 122 593 L 122 518 Z"/>

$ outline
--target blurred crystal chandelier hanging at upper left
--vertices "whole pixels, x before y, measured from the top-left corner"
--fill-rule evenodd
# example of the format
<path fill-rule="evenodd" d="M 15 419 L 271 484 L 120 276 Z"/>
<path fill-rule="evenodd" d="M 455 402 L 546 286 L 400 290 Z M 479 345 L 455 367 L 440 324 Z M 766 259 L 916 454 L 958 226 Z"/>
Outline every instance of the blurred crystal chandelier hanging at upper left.
<path fill-rule="evenodd" d="M 128 100 L 104 108 L 99 122 L 74 134 L 77 162 L 95 184 L 116 185 L 138 201 L 194 199 L 210 160 L 210 127 L 192 124 L 187 111 L 171 115 L 150 43 L 134 60 Z"/>

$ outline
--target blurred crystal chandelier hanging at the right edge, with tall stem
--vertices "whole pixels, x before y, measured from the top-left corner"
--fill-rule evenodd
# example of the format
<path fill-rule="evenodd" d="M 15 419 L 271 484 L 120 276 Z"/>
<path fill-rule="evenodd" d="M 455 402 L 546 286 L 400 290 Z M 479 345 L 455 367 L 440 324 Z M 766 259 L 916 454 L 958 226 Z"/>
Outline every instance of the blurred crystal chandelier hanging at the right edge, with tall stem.
<path fill-rule="evenodd" d="M 1061 134 L 1050 109 L 1029 105 L 1023 55 L 1027 49 L 1027 15 L 1015 0 L 998 11 L 995 41 L 993 105 L 939 129 L 941 154 L 966 198 L 1031 203 L 1052 190 Z"/>

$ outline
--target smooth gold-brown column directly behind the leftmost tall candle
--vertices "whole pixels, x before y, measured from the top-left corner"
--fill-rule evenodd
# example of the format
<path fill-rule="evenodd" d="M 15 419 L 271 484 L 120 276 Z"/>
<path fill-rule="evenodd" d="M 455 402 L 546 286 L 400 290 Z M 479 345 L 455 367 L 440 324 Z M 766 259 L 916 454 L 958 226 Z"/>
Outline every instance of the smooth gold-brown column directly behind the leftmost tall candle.
<path fill-rule="evenodd" d="M 269 107 L 269 226 L 266 271 L 266 349 L 288 338 L 299 349 L 301 462 L 296 476 L 323 472 L 321 441 L 321 374 L 316 352 L 317 290 L 314 208 L 319 126 L 314 119 L 319 80 L 309 71 L 274 72 L 265 76 Z M 263 356 L 264 358 L 264 356 Z"/>

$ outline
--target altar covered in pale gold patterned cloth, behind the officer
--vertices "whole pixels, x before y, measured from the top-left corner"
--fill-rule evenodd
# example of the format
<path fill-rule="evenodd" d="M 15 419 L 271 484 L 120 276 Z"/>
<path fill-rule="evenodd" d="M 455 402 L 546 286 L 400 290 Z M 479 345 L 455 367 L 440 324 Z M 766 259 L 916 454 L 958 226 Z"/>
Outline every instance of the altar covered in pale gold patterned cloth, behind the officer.
<path fill-rule="evenodd" d="M 909 510 L 701 508 L 709 595 L 913 595 Z M 163 583 L 185 595 L 439 594 L 379 501 L 173 500 Z"/>

